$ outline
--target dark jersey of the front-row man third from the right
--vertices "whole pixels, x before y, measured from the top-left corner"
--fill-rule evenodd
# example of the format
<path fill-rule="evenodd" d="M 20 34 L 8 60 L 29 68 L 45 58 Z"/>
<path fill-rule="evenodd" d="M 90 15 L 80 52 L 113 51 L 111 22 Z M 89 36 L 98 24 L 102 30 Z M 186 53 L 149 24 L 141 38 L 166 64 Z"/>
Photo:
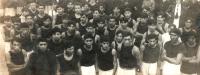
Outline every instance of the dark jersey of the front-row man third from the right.
<path fill-rule="evenodd" d="M 143 61 L 145 63 L 156 63 L 160 57 L 160 49 L 159 45 L 155 48 L 147 45 L 143 51 Z"/>

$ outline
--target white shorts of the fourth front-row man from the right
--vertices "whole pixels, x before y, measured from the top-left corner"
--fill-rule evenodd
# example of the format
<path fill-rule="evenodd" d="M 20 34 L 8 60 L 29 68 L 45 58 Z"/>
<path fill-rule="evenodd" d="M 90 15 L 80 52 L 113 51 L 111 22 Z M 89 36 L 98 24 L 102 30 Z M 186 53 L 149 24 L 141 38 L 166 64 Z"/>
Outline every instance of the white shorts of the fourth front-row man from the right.
<path fill-rule="evenodd" d="M 118 67 L 116 75 L 136 75 L 136 70 L 135 70 L 135 68 L 133 68 L 133 69 L 123 69 L 121 67 Z"/>

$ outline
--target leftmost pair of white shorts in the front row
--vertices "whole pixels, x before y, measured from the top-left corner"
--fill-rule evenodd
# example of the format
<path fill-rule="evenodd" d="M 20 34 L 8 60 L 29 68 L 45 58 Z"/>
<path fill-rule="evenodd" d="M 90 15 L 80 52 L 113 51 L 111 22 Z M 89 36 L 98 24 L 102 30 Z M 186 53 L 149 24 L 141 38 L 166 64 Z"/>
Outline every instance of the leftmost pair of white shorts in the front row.
<path fill-rule="evenodd" d="M 96 75 L 95 66 L 81 66 L 82 75 Z"/>

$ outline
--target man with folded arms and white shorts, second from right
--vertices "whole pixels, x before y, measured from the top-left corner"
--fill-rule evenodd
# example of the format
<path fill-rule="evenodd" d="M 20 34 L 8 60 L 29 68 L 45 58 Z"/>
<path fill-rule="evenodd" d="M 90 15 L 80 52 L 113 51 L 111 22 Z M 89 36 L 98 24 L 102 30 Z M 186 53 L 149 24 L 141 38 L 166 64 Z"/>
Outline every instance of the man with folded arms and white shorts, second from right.
<path fill-rule="evenodd" d="M 185 45 L 179 40 L 181 35 L 178 29 L 173 29 L 169 32 L 171 40 L 164 45 L 162 58 L 163 75 L 180 75 L 180 63 L 185 51 Z"/>

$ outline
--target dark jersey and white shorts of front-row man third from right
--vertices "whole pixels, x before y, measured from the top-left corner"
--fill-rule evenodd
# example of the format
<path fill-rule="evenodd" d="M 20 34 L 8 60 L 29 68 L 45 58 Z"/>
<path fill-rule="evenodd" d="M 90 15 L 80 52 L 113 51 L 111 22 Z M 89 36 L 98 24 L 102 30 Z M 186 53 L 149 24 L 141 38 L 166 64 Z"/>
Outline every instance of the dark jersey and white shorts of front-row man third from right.
<path fill-rule="evenodd" d="M 146 45 L 143 51 L 142 71 L 144 75 L 156 75 L 157 64 L 160 57 L 160 46 L 157 44 L 155 48 Z"/>

